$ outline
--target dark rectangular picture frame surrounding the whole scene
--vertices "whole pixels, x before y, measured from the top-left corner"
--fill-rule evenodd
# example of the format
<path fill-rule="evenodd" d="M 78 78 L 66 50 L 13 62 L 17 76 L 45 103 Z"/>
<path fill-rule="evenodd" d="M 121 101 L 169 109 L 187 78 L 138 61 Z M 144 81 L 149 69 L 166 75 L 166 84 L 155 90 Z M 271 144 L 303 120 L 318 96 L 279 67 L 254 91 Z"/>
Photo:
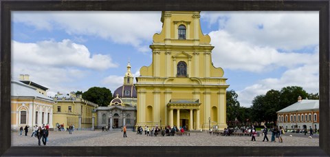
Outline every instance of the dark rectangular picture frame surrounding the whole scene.
<path fill-rule="evenodd" d="M 109 0 L 10 1 L 1 3 L 0 154 L 3 156 L 327 156 L 330 154 L 329 0 L 217 1 Z M 320 18 L 320 147 L 12 147 L 10 132 L 11 11 L 318 11 Z M 308 36 L 307 36 L 308 37 Z M 114 141 L 115 142 L 115 141 Z"/>

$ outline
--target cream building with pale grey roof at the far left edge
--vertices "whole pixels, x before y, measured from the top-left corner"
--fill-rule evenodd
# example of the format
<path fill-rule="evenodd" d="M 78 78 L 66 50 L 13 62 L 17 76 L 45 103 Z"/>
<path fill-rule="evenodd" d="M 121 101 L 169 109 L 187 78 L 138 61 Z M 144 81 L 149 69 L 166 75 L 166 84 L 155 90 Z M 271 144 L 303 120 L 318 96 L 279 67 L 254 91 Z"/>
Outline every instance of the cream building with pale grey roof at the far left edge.
<path fill-rule="evenodd" d="M 39 93 L 36 87 L 21 81 L 12 80 L 11 89 L 11 129 L 19 129 L 25 125 L 29 125 L 32 129 L 34 125 L 41 126 L 47 123 L 53 128 L 52 98 Z"/>

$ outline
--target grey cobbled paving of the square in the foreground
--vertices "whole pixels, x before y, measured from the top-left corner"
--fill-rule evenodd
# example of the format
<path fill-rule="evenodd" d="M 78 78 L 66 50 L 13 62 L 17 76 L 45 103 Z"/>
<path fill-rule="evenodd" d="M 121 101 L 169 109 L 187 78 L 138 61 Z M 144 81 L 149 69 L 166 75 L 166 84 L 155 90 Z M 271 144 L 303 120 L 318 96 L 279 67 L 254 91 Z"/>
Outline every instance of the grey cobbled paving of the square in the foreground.
<path fill-rule="evenodd" d="M 31 132 L 28 135 L 19 136 L 17 132 L 12 132 L 12 146 L 37 146 L 38 139 L 32 138 Z M 191 132 L 190 136 L 146 136 L 129 131 L 127 138 L 123 138 L 120 131 L 50 132 L 47 146 L 319 146 L 318 136 L 292 135 L 285 134 L 283 143 L 271 143 L 263 142 L 261 136 L 251 141 L 249 136 L 210 136 L 207 132 Z M 271 138 L 270 134 L 268 138 Z"/>

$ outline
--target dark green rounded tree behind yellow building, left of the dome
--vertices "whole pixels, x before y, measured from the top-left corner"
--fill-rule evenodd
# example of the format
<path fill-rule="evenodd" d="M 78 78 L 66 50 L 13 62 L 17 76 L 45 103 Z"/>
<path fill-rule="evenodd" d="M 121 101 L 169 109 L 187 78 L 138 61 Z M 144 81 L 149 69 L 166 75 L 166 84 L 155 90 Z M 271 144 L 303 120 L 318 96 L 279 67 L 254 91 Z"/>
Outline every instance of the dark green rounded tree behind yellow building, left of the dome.
<path fill-rule="evenodd" d="M 112 93 L 106 87 L 91 87 L 83 93 L 83 99 L 99 106 L 108 106 L 112 99 Z"/>

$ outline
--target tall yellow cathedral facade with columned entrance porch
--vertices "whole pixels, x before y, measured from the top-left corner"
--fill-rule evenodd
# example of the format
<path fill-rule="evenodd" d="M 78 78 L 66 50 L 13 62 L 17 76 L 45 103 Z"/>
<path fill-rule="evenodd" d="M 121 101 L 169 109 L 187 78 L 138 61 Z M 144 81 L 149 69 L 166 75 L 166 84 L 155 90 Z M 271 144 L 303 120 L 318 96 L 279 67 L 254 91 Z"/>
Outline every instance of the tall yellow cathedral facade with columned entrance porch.
<path fill-rule="evenodd" d="M 154 34 L 151 65 L 136 77 L 135 126 L 185 127 L 200 131 L 226 124 L 223 69 L 212 64 L 210 36 L 201 32 L 199 11 L 163 11 Z"/>

